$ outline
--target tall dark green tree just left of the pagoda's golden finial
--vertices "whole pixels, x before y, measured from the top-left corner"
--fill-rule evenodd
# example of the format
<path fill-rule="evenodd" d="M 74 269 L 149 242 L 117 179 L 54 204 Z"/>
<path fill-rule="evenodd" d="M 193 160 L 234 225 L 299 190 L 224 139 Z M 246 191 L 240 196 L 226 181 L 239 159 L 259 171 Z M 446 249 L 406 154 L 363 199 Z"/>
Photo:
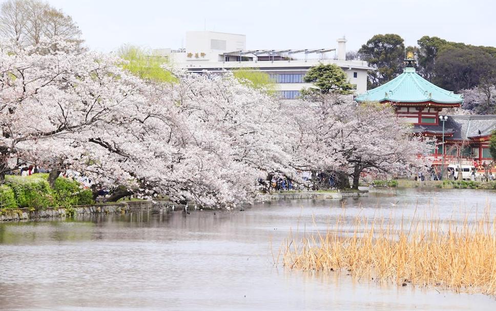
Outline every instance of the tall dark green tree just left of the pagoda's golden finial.
<path fill-rule="evenodd" d="M 376 88 L 395 78 L 404 67 L 405 45 L 397 34 L 376 34 L 358 51 L 369 55 L 368 87 Z"/>

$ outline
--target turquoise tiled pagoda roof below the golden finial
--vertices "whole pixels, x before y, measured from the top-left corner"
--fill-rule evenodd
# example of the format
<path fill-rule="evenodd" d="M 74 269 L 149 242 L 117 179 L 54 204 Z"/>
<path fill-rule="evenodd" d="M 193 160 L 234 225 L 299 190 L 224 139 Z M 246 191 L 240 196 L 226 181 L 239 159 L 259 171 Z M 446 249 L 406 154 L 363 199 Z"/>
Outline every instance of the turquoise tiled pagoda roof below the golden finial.
<path fill-rule="evenodd" d="M 380 87 L 369 90 L 355 98 L 356 101 L 389 101 L 392 103 L 433 103 L 432 106 L 460 106 L 463 95 L 444 90 L 422 78 L 414 67 L 406 67 L 403 73 Z M 441 105 L 436 105 L 436 103 Z M 443 105 L 444 104 L 444 105 Z M 410 106 L 410 105 L 409 105 Z"/>

